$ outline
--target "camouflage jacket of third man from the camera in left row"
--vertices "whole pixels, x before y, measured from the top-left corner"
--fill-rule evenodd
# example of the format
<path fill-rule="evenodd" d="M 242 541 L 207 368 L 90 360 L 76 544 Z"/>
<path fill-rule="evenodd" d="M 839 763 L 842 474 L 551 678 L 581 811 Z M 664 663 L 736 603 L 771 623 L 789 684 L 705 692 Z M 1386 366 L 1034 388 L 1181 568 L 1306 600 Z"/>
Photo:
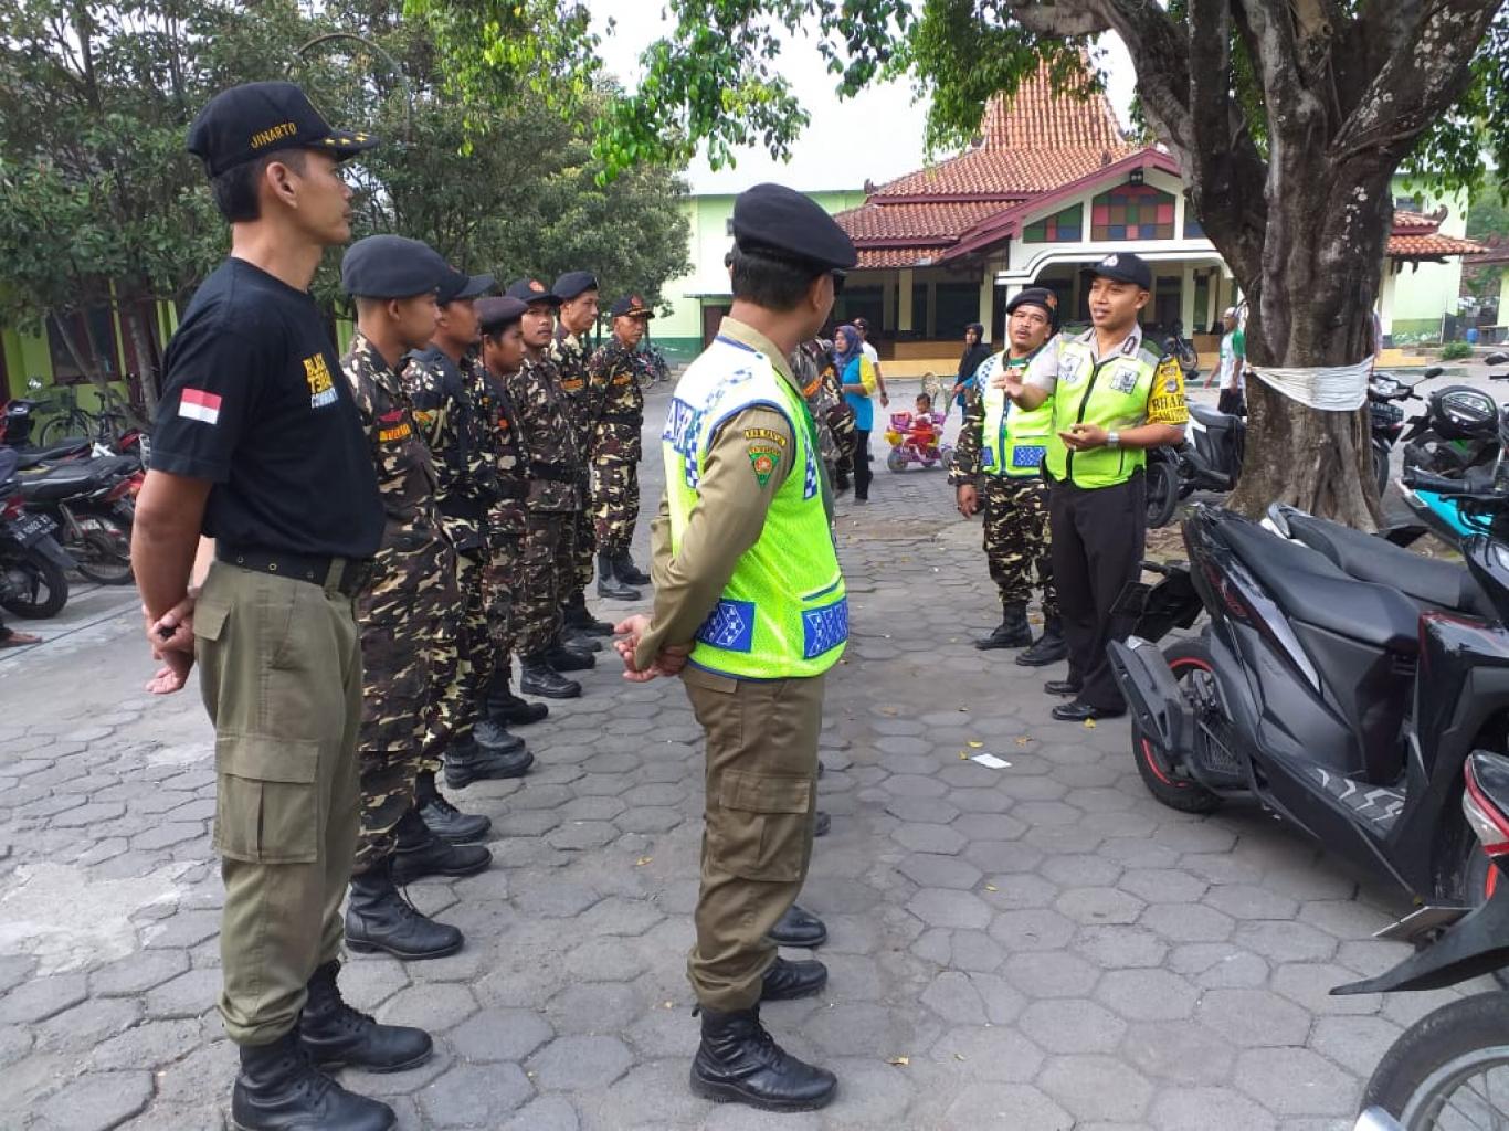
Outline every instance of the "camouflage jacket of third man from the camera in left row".
<path fill-rule="evenodd" d="M 403 388 L 435 457 L 441 520 L 459 547 L 472 549 L 486 535 L 487 508 L 498 496 L 498 472 L 472 394 L 478 363 L 471 356 L 453 362 L 435 345 L 406 360 Z"/>

